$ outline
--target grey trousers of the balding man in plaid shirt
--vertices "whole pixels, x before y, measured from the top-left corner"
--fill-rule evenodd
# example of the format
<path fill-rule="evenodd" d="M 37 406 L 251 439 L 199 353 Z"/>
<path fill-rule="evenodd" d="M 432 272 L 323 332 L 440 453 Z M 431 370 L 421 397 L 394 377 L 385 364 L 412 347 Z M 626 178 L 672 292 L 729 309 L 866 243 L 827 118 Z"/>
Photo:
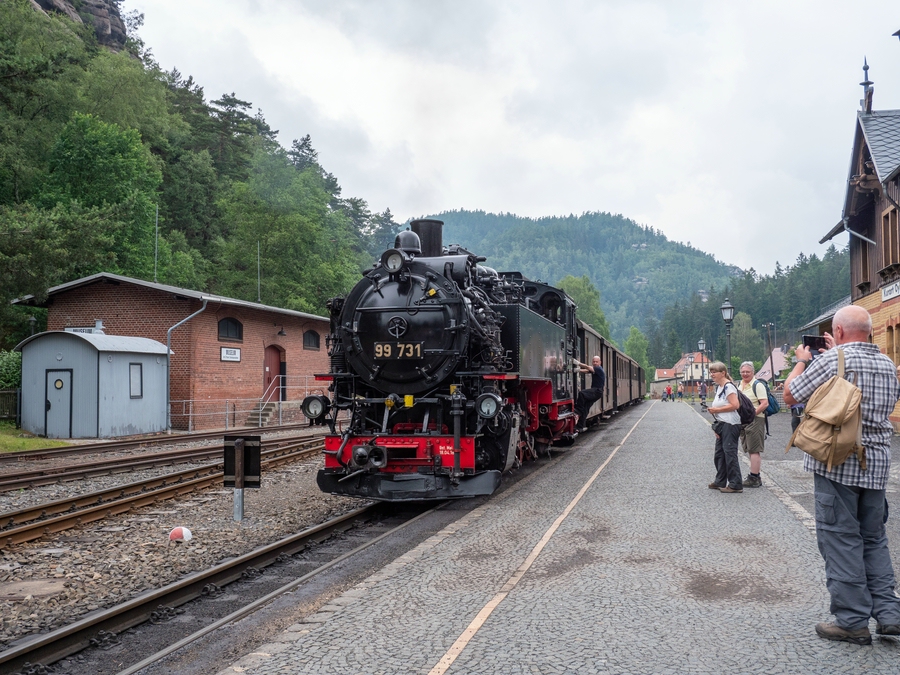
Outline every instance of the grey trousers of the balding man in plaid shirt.
<path fill-rule="evenodd" d="M 816 539 L 835 623 L 850 630 L 867 626 L 869 617 L 900 624 L 884 529 L 884 490 L 842 485 L 815 474 L 815 491 Z"/>

